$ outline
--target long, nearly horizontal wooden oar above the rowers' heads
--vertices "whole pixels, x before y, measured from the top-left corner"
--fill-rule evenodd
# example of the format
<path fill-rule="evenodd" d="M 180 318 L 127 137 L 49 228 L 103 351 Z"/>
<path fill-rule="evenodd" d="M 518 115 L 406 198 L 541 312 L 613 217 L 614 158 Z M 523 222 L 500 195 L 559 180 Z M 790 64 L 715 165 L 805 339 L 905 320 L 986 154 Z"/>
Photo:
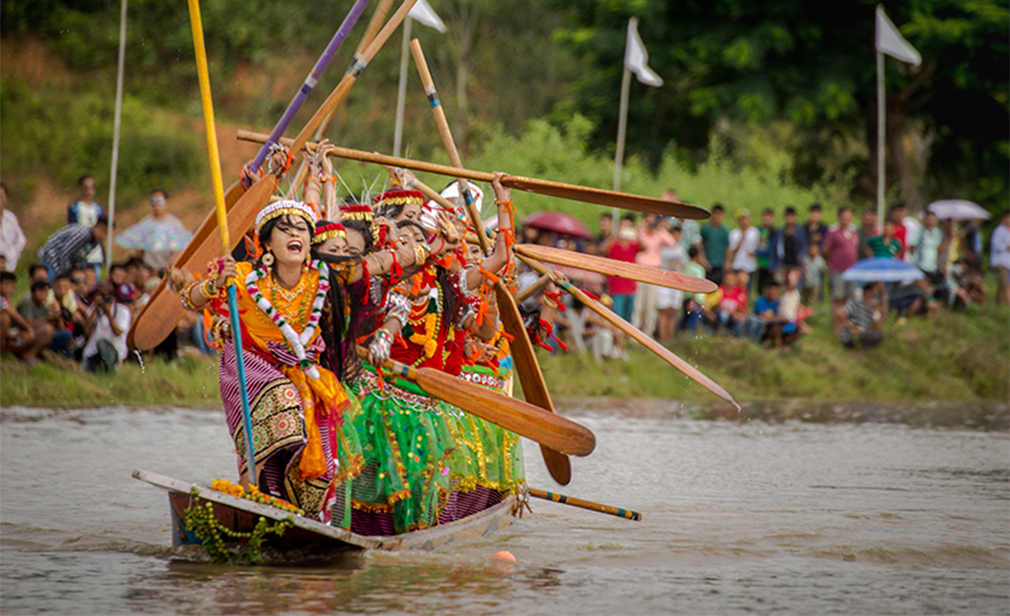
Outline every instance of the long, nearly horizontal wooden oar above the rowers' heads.
<path fill-rule="evenodd" d="M 238 138 L 243 141 L 262 143 L 267 135 L 249 130 L 239 130 Z M 282 143 L 292 144 L 292 140 L 281 139 Z M 304 143 L 302 144 L 304 146 Z M 301 147 L 299 147 L 301 149 Z M 298 150 L 292 147 L 292 151 Z M 410 159 L 389 157 L 386 155 L 350 149 L 349 147 L 333 147 L 332 156 L 347 159 L 350 161 L 361 161 L 363 163 L 374 163 L 388 167 L 404 167 L 413 171 L 437 174 L 449 178 L 465 178 L 473 182 L 490 183 L 494 178 L 493 174 L 468 169 L 457 169 L 445 165 L 434 163 L 423 163 Z M 533 178 L 523 178 L 521 176 L 505 176 L 502 178 L 502 186 L 507 186 L 515 190 L 527 193 L 536 193 L 548 197 L 560 197 L 572 201 L 582 201 L 583 203 L 594 203 L 607 207 L 616 206 L 626 210 L 645 212 L 648 214 L 659 214 L 661 216 L 676 216 L 678 218 L 689 218 L 693 220 L 703 220 L 708 218 L 709 213 L 700 207 L 677 203 L 674 201 L 664 201 L 652 197 L 642 197 L 640 195 L 630 195 L 628 193 L 617 193 L 604 190 L 602 188 L 590 188 L 587 186 L 577 186 L 574 184 L 563 184 L 561 182 L 550 182 L 547 180 L 536 180 Z"/>

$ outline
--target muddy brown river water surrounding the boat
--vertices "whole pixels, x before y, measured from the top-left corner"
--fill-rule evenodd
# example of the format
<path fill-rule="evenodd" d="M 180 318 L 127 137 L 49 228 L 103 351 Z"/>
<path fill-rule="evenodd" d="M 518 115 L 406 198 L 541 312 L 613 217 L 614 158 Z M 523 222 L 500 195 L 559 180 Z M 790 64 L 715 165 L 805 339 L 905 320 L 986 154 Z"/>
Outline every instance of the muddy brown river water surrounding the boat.
<path fill-rule="evenodd" d="M 434 552 L 242 568 L 173 558 L 168 499 L 130 478 L 233 479 L 220 412 L 3 409 L 0 611 L 1010 611 L 1005 429 L 699 420 L 664 403 L 565 413 L 597 449 L 560 489 L 527 442 L 530 485 L 641 522 L 534 500 L 512 526 Z M 490 557 L 506 549 L 515 564 Z"/>

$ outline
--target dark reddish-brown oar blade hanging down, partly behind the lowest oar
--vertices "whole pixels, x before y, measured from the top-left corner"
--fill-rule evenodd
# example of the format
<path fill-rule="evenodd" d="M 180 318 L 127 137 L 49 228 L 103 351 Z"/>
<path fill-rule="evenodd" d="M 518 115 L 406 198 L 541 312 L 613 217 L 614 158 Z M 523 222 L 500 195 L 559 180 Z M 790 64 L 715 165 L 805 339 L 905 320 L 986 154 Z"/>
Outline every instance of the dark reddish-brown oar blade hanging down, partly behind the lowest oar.
<path fill-rule="evenodd" d="M 515 298 L 501 281 L 495 285 L 495 295 L 498 299 L 498 314 L 502 325 L 505 327 L 506 333 L 512 336 L 510 346 L 513 365 L 519 376 L 519 383 L 522 384 L 522 393 L 526 397 L 526 402 L 553 413 L 554 404 L 550 400 L 550 392 L 547 391 L 547 384 L 543 380 L 543 372 L 540 371 L 540 365 L 536 361 L 536 353 L 533 352 L 533 344 L 522 323 L 519 306 L 516 305 Z M 540 445 L 540 454 L 543 456 L 543 464 L 546 465 L 550 477 L 562 486 L 569 485 L 572 481 L 572 461 L 568 455 L 542 444 Z"/>

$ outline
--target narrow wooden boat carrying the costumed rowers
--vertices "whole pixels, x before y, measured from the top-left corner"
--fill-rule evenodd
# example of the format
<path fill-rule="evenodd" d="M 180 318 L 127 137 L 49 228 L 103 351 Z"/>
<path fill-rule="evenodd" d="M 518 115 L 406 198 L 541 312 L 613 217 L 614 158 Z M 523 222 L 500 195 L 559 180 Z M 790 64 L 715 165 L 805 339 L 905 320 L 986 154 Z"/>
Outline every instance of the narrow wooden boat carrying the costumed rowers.
<path fill-rule="evenodd" d="M 183 514 L 190 507 L 205 503 L 213 504 L 217 521 L 232 531 L 248 532 L 261 517 L 271 521 L 291 518 L 294 526 L 282 537 L 270 535 L 267 544 L 281 552 L 297 551 L 311 554 L 363 549 L 432 550 L 446 543 L 483 537 L 508 526 L 519 514 L 521 505 L 516 495 L 509 495 L 493 507 L 448 524 L 393 536 L 364 536 L 317 520 L 292 515 L 290 512 L 269 505 L 217 492 L 208 486 L 186 483 L 140 470 L 133 471 L 133 478 L 169 493 L 173 546 L 202 545 L 201 540 L 186 528 Z"/>

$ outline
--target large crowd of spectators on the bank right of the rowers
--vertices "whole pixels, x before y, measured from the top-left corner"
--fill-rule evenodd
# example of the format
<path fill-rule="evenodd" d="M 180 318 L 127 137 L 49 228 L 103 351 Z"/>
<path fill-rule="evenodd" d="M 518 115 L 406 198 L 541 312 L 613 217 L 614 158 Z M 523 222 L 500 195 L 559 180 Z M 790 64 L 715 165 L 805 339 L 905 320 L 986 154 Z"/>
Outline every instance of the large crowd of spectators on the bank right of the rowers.
<path fill-rule="evenodd" d="M 663 198 L 679 201 L 674 191 Z M 624 214 L 616 229 L 611 215 L 602 214 L 594 238 L 536 228 L 524 229 L 522 236 L 527 242 L 658 267 L 717 285 L 712 293 L 691 294 L 565 270 L 577 285 L 600 295 L 619 316 L 664 343 L 678 331 L 707 332 L 788 350 L 812 331 L 808 318 L 826 312 L 841 344 L 853 350 L 870 348 L 883 340 L 888 314 L 927 317 L 942 308 L 983 303 L 987 271 L 998 279 L 996 301 L 1010 303 L 1010 214 L 1002 216 L 990 237 L 988 262 L 982 220 L 941 220 L 932 211 L 910 216 L 900 203 L 891 207 L 880 232 L 874 208 L 862 212 L 860 226 L 848 206 L 838 208 L 831 225 L 820 204 L 807 208 L 803 222 L 794 207 L 785 208 L 781 224 L 771 209 L 761 212 L 758 225 L 742 208 L 734 212 L 732 227 L 722 205 L 714 204 L 711 214 L 703 224 L 653 214 L 636 220 Z M 909 278 L 920 278 L 855 283 L 842 276 L 874 258 L 900 260 L 913 268 Z M 530 283 L 535 279 L 526 276 Z M 626 357 L 621 330 L 578 300 L 566 296 L 556 301 L 548 293 L 540 301 L 558 325 L 561 343 L 551 343 L 552 349 L 592 349 L 597 358 Z"/>

